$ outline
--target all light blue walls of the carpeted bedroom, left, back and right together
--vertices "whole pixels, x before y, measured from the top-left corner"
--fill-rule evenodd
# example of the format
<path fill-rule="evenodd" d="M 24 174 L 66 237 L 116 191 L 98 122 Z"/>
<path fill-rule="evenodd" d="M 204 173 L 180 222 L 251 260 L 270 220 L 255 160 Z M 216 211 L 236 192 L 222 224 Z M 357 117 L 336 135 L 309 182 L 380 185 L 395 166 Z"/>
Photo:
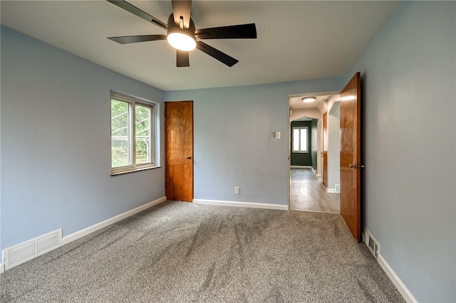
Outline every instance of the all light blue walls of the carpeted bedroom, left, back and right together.
<path fill-rule="evenodd" d="M 455 5 L 400 4 L 345 79 L 165 92 L 194 100 L 195 198 L 286 205 L 288 95 L 361 71 L 366 227 L 416 299 L 455 302 Z M 163 95 L 1 28 L 1 249 L 164 196 L 163 169 L 109 175 L 110 89 Z"/>

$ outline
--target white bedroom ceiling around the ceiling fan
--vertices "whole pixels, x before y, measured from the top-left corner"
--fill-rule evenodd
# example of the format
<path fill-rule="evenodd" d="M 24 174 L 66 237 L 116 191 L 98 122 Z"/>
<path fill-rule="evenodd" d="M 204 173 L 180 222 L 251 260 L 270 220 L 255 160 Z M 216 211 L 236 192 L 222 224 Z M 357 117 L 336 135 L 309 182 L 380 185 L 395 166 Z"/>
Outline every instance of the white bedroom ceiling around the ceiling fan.
<path fill-rule="evenodd" d="M 171 1 L 130 1 L 167 21 Z M 257 39 L 205 40 L 239 60 L 199 50 L 176 68 L 166 41 L 121 45 L 109 36 L 165 33 L 108 1 L 1 1 L 1 24 L 161 90 L 278 83 L 343 75 L 398 1 L 193 1 L 197 28 L 256 23 Z"/>

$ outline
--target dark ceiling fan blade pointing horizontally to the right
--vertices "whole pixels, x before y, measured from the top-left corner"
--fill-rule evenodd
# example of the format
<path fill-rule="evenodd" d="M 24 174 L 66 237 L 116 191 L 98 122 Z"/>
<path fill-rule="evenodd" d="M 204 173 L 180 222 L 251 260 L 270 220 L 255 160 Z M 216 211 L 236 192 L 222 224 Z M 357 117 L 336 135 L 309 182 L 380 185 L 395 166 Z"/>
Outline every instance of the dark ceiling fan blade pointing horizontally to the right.
<path fill-rule="evenodd" d="M 235 26 L 220 26 L 202 28 L 195 31 L 195 36 L 200 39 L 256 39 L 257 27 L 255 23 Z"/>

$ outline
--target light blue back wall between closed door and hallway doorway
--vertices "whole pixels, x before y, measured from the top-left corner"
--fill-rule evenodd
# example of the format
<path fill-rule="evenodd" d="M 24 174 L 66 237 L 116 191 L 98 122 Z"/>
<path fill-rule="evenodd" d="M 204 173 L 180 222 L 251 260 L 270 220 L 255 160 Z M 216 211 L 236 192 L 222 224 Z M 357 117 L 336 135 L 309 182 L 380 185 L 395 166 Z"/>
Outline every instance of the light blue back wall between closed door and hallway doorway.
<path fill-rule="evenodd" d="M 288 96 L 342 87 L 331 78 L 165 92 L 165 101 L 194 101 L 195 199 L 287 205 Z"/>

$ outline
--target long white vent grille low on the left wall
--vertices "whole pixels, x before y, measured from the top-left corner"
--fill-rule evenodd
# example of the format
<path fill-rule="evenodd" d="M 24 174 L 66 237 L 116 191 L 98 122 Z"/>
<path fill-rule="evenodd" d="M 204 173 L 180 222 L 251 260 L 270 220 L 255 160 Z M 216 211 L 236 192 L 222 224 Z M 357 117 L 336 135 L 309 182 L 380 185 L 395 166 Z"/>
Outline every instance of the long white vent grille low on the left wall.
<path fill-rule="evenodd" d="M 38 255 L 43 255 L 62 245 L 62 230 L 55 230 L 46 235 L 28 240 L 3 250 L 3 262 L 5 270 L 31 260 Z"/>

